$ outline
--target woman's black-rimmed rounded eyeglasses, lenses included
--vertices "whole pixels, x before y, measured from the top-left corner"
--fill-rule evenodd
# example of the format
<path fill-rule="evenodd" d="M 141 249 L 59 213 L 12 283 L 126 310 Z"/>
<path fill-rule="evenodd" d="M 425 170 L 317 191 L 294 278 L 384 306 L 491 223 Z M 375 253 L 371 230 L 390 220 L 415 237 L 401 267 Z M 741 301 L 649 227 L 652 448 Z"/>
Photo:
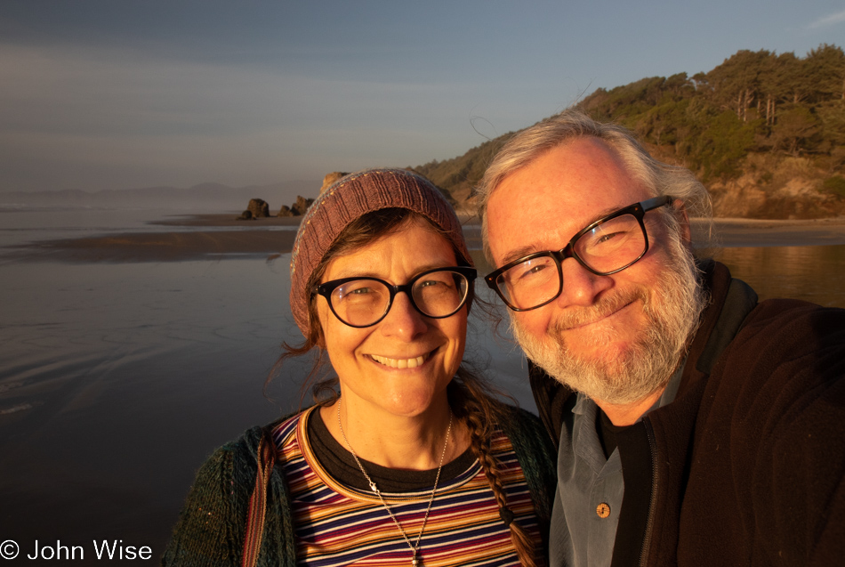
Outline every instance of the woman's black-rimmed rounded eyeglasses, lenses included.
<path fill-rule="evenodd" d="M 466 303 L 475 268 L 455 266 L 423 271 L 403 286 L 378 278 L 342 278 L 311 288 L 326 297 L 334 316 L 350 327 L 375 325 L 390 311 L 393 298 L 404 291 L 414 309 L 431 319 L 445 319 Z"/>

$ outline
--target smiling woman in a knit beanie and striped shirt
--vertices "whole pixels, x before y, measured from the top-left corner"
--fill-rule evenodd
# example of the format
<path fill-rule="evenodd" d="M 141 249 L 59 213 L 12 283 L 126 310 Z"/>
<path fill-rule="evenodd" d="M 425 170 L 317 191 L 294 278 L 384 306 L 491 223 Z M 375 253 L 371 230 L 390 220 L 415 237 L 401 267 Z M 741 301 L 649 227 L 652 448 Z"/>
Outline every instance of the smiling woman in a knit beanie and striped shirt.
<path fill-rule="evenodd" d="M 350 174 L 302 219 L 291 310 L 336 379 L 197 474 L 163 564 L 543 564 L 554 453 L 461 367 L 475 269 L 405 170 Z M 340 387 L 340 395 L 335 385 Z"/>

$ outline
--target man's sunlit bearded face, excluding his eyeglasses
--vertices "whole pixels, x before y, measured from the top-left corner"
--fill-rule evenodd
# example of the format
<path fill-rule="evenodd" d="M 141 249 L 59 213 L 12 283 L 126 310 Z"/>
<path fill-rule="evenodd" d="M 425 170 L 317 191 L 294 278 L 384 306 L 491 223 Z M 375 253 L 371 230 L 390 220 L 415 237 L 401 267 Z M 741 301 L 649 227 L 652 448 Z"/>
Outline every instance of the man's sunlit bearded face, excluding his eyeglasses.
<path fill-rule="evenodd" d="M 501 266 L 532 252 L 558 250 L 587 224 L 650 197 L 604 142 L 587 138 L 553 148 L 506 177 L 491 196 L 490 251 Z M 634 401 L 664 385 L 695 323 L 696 315 L 677 306 L 696 293 L 691 264 L 678 267 L 677 256 L 688 252 L 682 246 L 670 252 L 668 231 L 656 212 L 645 223 L 650 247 L 638 263 L 597 276 L 567 258 L 556 300 L 534 311 L 511 312 L 528 355 L 595 399 Z"/>

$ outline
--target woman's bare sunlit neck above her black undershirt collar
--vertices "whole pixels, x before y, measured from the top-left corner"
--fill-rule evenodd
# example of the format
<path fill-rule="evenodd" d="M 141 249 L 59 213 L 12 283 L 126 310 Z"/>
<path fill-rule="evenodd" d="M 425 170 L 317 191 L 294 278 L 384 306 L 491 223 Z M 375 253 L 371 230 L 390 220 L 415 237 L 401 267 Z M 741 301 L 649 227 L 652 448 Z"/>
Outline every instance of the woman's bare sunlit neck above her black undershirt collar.
<path fill-rule="evenodd" d="M 452 416 L 445 399 L 420 415 L 407 417 L 360 408 L 341 398 L 321 408 L 320 416 L 329 433 L 345 449 L 351 447 L 358 458 L 390 468 L 438 468 L 441 455 L 445 465 L 460 456 L 470 442 L 466 426 Z"/>

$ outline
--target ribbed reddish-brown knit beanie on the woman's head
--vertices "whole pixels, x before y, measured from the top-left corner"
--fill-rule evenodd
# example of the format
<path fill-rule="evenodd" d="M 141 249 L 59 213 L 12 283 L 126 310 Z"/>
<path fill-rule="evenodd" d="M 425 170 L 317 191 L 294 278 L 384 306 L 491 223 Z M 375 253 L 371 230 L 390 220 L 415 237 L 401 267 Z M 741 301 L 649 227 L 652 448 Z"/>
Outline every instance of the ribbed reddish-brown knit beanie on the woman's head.
<path fill-rule="evenodd" d="M 291 312 L 302 335 L 309 336 L 306 288 L 311 273 L 355 219 L 382 208 L 406 208 L 444 231 L 444 236 L 472 263 L 455 210 L 430 181 L 405 169 L 366 169 L 326 188 L 302 217 L 291 253 Z"/>

